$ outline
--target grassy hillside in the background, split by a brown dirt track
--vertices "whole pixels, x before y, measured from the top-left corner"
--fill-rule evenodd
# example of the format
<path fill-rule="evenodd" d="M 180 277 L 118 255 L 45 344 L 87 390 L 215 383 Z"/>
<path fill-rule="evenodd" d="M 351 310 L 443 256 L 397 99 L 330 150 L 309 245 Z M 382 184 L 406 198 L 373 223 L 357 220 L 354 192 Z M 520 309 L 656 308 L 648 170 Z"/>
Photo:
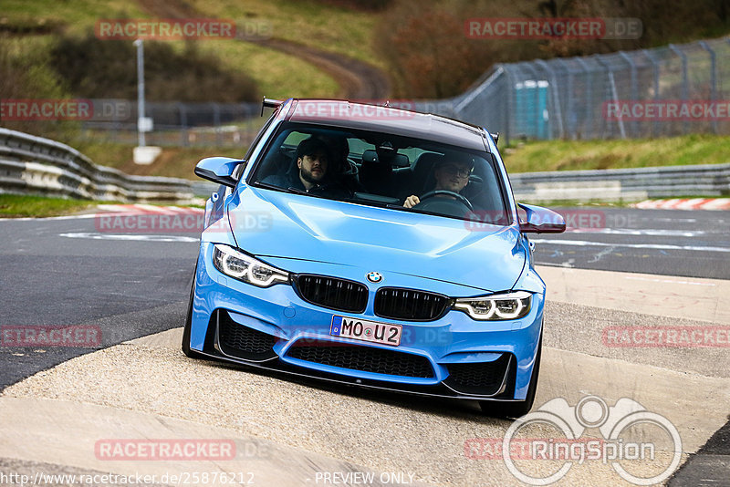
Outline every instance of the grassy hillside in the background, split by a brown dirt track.
<path fill-rule="evenodd" d="M 264 32 L 295 45 L 370 61 L 377 65 L 370 35 L 375 13 L 319 2 L 287 0 L 248 2 L 183 2 L 122 0 L 78 0 L 75 2 L 4 0 L 0 13 L 0 33 L 21 56 L 42 57 L 59 38 L 85 36 L 94 31 L 99 19 L 119 18 L 222 18 L 234 20 L 243 32 Z M 293 22 L 291 19 L 295 19 Z M 266 40 L 266 39 L 264 39 Z M 7 41 L 5 41 L 7 42 Z M 183 41 L 165 41 L 183 52 Z M 200 40 L 197 47 L 205 56 L 220 61 L 227 69 L 255 80 L 258 92 L 269 97 L 332 97 L 345 93 L 332 71 L 316 66 L 298 51 L 288 52 L 260 40 Z M 292 52 L 294 54 L 292 54 Z M 374 62 L 373 62 L 374 60 Z M 331 63 L 330 63 L 331 64 Z M 334 73 L 337 75 L 337 73 Z M 83 94 L 72 93 L 73 96 Z"/>

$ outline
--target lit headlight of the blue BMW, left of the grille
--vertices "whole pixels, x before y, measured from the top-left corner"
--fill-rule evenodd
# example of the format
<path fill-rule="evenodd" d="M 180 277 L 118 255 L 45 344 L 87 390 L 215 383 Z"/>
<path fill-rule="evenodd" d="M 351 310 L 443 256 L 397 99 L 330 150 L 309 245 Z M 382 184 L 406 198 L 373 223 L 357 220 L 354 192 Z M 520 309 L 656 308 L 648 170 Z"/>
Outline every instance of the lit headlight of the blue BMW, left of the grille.
<path fill-rule="evenodd" d="M 213 264 L 224 275 L 259 287 L 287 283 L 289 275 L 224 244 L 214 244 Z"/>

